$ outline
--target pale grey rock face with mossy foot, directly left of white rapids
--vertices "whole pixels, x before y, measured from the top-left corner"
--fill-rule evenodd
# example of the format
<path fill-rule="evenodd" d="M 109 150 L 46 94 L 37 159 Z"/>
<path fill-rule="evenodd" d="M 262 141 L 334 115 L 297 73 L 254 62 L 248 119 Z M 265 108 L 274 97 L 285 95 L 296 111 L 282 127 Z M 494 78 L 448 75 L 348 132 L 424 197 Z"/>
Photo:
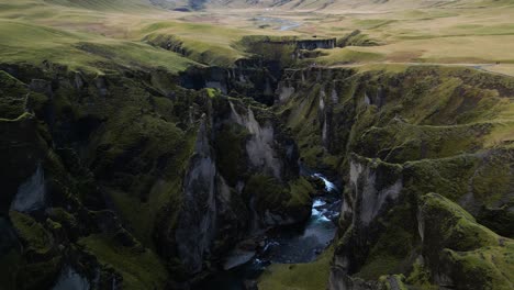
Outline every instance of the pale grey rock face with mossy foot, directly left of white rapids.
<path fill-rule="evenodd" d="M 298 148 L 295 143 L 279 129 L 269 112 L 230 102 L 231 120 L 246 129 L 245 156 L 250 175 L 242 188 L 253 214 L 252 228 L 293 224 L 309 215 L 309 194 L 293 190 L 291 182 L 299 181 Z M 259 111 L 260 110 L 260 111 Z M 260 114 L 256 116 L 256 114 Z M 288 200 L 301 196 L 299 204 Z M 282 202 L 279 202 L 282 200 Z"/>

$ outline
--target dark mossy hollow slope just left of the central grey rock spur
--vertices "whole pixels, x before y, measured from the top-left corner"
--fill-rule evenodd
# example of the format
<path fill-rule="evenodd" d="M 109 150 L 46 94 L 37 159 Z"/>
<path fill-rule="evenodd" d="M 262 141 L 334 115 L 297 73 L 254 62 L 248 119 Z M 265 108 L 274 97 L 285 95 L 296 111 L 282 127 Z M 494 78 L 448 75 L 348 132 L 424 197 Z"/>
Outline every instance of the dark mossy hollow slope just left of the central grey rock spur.
<path fill-rule="evenodd" d="M 163 116 L 125 107 L 110 119 L 94 152 L 93 170 L 134 234 L 152 247 L 156 215 L 172 196 L 193 148 L 194 134 Z"/>

